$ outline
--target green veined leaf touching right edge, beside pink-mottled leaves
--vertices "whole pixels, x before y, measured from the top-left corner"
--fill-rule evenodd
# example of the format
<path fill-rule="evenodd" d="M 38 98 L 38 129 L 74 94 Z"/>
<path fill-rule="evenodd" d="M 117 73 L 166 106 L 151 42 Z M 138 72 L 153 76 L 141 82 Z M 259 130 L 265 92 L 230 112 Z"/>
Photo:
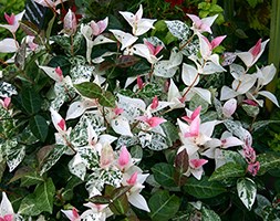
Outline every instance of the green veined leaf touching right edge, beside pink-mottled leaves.
<path fill-rule="evenodd" d="M 260 170 L 257 173 L 258 176 L 265 175 L 267 171 L 280 167 L 280 156 L 277 156 L 276 154 L 258 155 L 257 160 L 260 162 Z"/>

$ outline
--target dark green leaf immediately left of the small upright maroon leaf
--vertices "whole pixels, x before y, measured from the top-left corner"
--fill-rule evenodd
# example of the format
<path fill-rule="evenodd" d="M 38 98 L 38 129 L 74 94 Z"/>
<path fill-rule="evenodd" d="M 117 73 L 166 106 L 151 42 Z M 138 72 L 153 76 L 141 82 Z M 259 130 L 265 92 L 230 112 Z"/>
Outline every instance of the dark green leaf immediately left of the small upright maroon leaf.
<path fill-rule="evenodd" d="M 159 162 L 152 167 L 155 180 L 164 187 L 176 187 L 174 181 L 175 169 L 172 165 Z"/>

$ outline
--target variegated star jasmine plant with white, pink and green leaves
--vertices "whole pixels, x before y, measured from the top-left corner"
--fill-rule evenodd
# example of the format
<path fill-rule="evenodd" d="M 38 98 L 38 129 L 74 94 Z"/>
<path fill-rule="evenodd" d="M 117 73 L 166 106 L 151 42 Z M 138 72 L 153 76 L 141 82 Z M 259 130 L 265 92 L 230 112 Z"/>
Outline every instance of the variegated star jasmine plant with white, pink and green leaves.
<path fill-rule="evenodd" d="M 277 70 L 258 62 L 269 40 L 225 52 L 218 15 L 157 21 L 139 4 L 80 19 L 71 2 L 35 2 L 51 9 L 45 30 L 24 12 L 0 25 L 14 53 L 0 78 L 1 221 L 274 218 L 263 175 L 280 157 L 256 139 L 273 123 L 266 99 L 279 107 Z"/>

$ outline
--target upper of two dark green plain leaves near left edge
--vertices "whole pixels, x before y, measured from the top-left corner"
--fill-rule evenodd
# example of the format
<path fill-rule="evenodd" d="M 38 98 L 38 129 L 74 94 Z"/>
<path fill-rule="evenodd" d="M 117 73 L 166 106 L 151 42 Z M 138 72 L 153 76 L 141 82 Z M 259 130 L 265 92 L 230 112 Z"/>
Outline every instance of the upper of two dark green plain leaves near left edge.
<path fill-rule="evenodd" d="M 23 88 L 21 95 L 22 106 L 28 114 L 35 114 L 41 109 L 41 97 L 32 88 Z"/>

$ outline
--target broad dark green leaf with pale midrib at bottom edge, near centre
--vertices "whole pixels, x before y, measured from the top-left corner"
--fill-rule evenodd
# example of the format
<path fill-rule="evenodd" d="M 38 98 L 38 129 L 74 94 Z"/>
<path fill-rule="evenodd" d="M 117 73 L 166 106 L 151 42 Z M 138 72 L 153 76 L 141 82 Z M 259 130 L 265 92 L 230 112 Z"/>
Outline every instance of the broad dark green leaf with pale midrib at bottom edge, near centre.
<path fill-rule="evenodd" d="M 154 221 L 167 221 L 179 210 L 180 200 L 175 194 L 169 196 L 167 190 L 155 192 L 148 200 L 149 217 Z"/>

